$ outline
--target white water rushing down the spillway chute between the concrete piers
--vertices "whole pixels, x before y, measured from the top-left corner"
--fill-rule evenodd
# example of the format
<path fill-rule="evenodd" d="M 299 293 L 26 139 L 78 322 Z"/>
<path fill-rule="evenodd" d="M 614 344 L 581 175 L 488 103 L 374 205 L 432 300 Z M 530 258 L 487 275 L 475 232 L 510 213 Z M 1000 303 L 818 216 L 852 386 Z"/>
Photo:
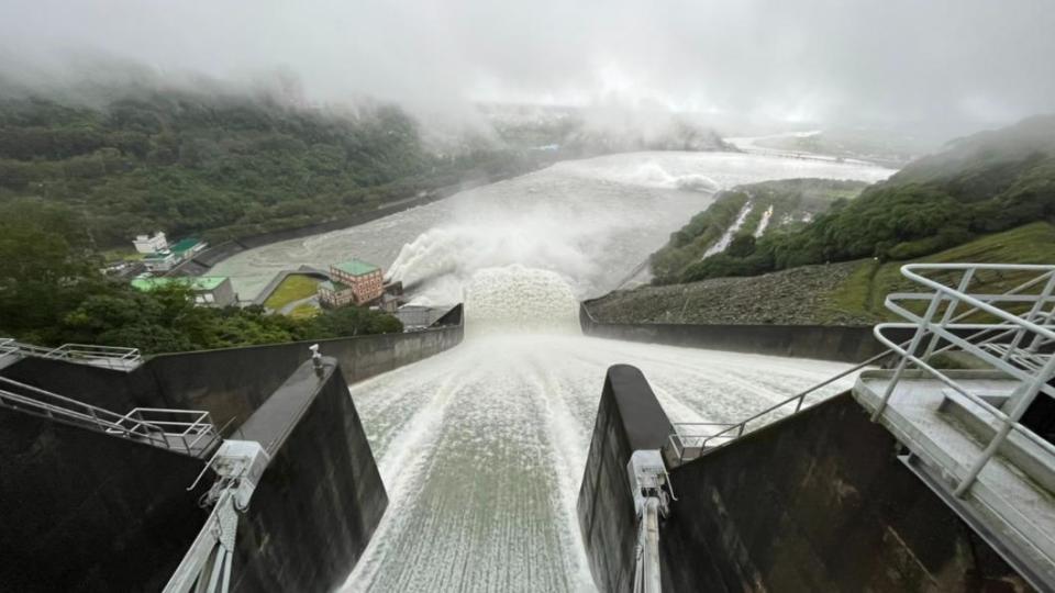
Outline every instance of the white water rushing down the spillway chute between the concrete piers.
<path fill-rule="evenodd" d="M 390 503 L 346 591 L 592 590 L 575 505 L 609 366 L 642 369 L 676 422 L 741 419 L 843 368 L 584 337 L 551 272 L 481 273 L 462 346 L 351 389 Z"/>

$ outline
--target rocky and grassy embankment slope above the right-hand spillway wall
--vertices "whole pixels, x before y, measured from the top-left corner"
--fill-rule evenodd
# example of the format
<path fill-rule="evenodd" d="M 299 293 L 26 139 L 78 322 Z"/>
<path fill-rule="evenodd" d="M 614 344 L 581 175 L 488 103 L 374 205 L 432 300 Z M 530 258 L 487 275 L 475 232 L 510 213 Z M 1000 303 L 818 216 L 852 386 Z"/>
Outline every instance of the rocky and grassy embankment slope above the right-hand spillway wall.
<path fill-rule="evenodd" d="M 588 306 L 593 316 L 610 323 L 871 325 L 903 321 L 884 301 L 891 292 L 919 291 L 918 284 L 901 275 L 906 262 L 1051 264 L 1053 254 L 1055 225 L 1036 222 L 985 235 L 918 260 L 880 262 L 865 258 L 754 277 L 638 287 L 611 292 L 590 301 Z M 931 272 L 928 277 L 947 286 L 956 286 L 960 280 L 959 272 L 952 271 Z M 977 271 L 970 289 L 998 294 L 1033 277 L 1007 270 Z M 1015 310 L 1013 303 L 1007 305 Z M 926 303 L 906 306 L 922 314 Z M 977 316 L 971 321 L 992 320 Z"/>

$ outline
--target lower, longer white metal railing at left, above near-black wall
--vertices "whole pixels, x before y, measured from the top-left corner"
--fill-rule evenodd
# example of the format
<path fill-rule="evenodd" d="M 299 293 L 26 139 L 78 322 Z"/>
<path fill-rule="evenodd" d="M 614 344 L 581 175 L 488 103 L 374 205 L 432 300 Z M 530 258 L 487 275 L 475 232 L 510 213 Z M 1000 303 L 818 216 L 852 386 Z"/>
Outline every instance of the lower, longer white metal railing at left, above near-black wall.
<path fill-rule="evenodd" d="M 220 440 L 208 412 L 136 407 L 121 415 L 7 377 L 0 377 L 0 406 L 195 457 L 208 456 Z"/>

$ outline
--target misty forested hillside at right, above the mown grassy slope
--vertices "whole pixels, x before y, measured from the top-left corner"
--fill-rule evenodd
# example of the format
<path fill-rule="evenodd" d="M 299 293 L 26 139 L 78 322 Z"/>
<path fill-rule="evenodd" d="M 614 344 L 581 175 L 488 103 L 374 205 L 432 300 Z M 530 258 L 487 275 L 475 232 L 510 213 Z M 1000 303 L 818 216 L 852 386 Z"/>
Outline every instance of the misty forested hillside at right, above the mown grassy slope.
<path fill-rule="evenodd" d="M 682 269 L 675 281 L 754 276 L 809 264 L 906 260 L 1055 220 L 1055 115 L 956 141 L 801 228 Z M 677 235 L 671 244 L 677 242 Z M 659 281 L 671 281 L 662 275 Z"/>

